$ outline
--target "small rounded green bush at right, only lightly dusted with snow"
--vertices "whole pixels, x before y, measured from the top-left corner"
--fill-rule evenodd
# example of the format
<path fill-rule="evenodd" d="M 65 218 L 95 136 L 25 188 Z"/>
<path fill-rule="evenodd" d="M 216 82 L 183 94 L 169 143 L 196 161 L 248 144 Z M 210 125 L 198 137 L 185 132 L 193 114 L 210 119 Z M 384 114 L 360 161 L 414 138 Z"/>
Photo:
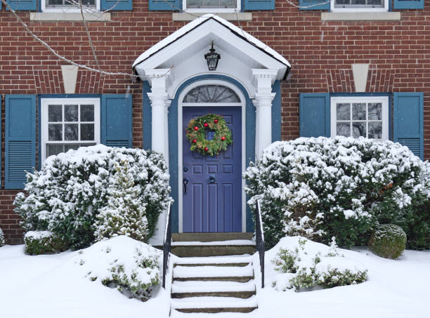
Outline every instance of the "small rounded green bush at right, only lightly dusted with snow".
<path fill-rule="evenodd" d="M 370 236 L 369 247 L 377 256 L 395 260 L 405 250 L 406 233 L 398 225 L 379 225 Z"/>

